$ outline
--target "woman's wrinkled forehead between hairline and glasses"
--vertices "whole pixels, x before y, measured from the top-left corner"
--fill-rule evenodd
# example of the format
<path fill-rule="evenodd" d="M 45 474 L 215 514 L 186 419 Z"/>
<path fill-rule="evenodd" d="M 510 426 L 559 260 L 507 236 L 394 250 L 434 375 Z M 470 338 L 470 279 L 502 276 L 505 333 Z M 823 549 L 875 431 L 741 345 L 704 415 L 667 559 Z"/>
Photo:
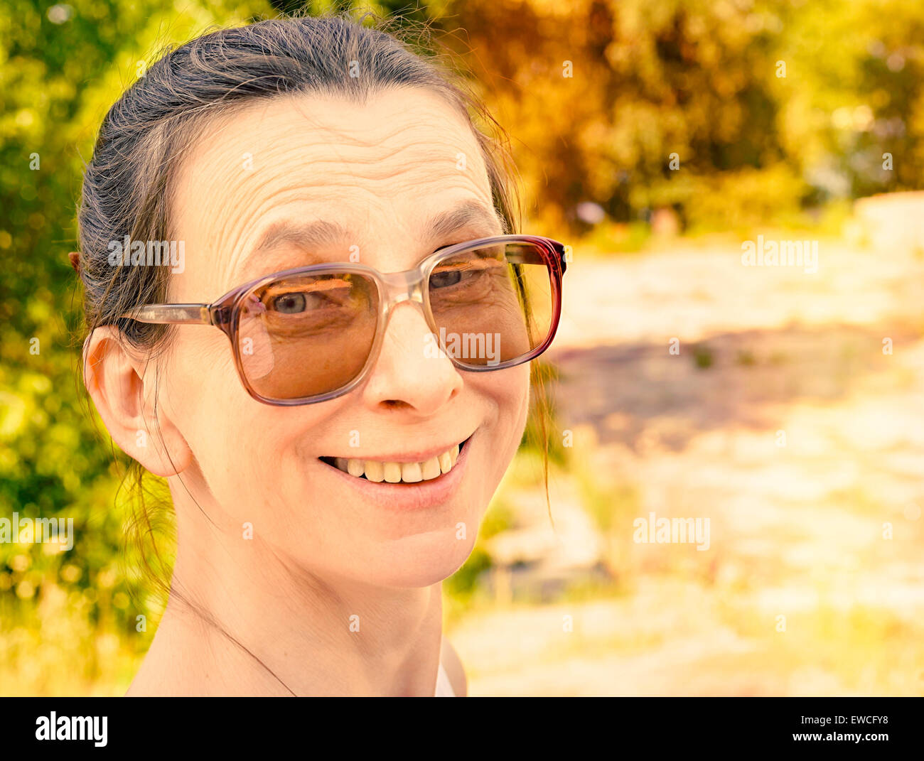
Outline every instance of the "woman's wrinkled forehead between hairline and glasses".
<path fill-rule="evenodd" d="M 471 201 L 493 209 L 478 142 L 434 93 L 249 104 L 204 129 L 177 175 L 174 235 L 185 241 L 187 264 L 176 285 L 215 297 L 242 278 L 283 269 L 262 250 L 255 255 L 280 223 L 335 223 L 351 240 L 329 241 L 328 258 L 342 248 L 346 260 L 356 246 L 372 266 L 407 269 L 430 253 L 425 223 Z"/>

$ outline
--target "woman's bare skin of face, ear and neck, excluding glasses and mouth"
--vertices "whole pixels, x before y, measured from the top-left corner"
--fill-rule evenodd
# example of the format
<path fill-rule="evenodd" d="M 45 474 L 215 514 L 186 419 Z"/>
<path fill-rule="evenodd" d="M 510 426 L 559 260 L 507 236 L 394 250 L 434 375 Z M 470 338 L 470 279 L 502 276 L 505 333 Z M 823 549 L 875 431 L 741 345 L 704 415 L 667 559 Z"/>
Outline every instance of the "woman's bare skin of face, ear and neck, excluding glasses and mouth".
<path fill-rule="evenodd" d="M 470 128 L 438 95 L 249 104 L 208 126 L 179 168 L 172 223 L 186 267 L 172 275 L 168 300 L 213 301 L 310 257 L 346 261 L 354 245 L 361 263 L 392 272 L 436 248 L 503 233 L 495 214 L 428 235 L 432 215 L 464 201 L 492 210 L 488 175 Z M 266 227 L 285 219 L 332 221 L 350 235 L 251 256 Z M 213 327 L 178 326 L 154 359 L 129 352 L 112 328 L 93 332 L 91 397 L 116 443 L 171 489 L 174 588 L 265 664 L 171 596 L 128 695 L 432 695 L 441 658 L 465 694 L 462 665 L 442 637 L 442 581 L 468 558 L 517 450 L 529 367 L 457 370 L 424 355 L 427 332 L 419 305 L 399 304 L 364 383 L 292 407 L 246 393 Z M 139 430 L 150 433 L 146 447 Z M 448 449 L 472 431 L 459 487 L 434 508 L 386 510 L 318 459 Z"/>

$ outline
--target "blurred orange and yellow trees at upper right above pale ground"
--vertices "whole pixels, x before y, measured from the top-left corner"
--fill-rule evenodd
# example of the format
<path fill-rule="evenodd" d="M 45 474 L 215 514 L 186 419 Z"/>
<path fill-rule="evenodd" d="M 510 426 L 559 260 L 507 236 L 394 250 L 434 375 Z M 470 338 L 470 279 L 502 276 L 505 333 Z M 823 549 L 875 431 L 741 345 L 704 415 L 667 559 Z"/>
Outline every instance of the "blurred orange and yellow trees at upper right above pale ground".
<path fill-rule="evenodd" d="M 453 6 L 537 216 L 584 229 L 673 206 L 726 226 L 920 187 L 924 6 L 544 0 Z M 896 20 L 898 21 L 896 23 Z M 901 166 L 883 170 L 894 149 Z"/>

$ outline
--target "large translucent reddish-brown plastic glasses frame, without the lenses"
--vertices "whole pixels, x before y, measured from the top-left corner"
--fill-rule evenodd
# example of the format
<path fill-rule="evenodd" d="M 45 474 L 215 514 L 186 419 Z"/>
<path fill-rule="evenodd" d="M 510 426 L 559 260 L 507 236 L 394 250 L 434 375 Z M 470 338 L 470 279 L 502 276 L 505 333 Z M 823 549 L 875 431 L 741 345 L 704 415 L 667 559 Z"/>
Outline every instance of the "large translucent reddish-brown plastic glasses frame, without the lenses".
<path fill-rule="evenodd" d="M 562 313 L 562 276 L 565 274 L 566 266 L 565 245 L 552 238 L 541 236 L 492 236 L 477 238 L 453 246 L 440 248 L 425 260 L 421 261 L 419 266 L 404 272 L 379 272 L 372 267 L 354 262 L 324 262 L 323 264 L 312 264 L 307 267 L 298 267 L 292 270 L 284 270 L 282 272 L 273 272 L 268 275 L 263 275 L 256 280 L 238 285 L 237 288 L 228 291 L 225 296 L 221 296 L 211 304 L 146 304 L 125 312 L 119 316 L 119 319 L 137 320 L 139 322 L 154 324 L 213 325 L 224 332 L 231 342 L 235 366 L 237 367 L 237 375 L 251 397 L 267 405 L 312 405 L 318 402 L 326 402 L 330 399 L 335 399 L 338 396 L 343 396 L 351 392 L 366 379 L 371 368 L 375 365 L 375 361 L 379 356 L 379 351 L 382 348 L 383 337 L 391 311 L 401 302 L 408 300 L 417 301 L 420 304 L 428 327 L 430 327 L 434 334 L 438 333 L 436 320 L 433 319 L 432 310 L 430 308 L 429 283 L 433 270 L 441 261 L 450 259 L 459 254 L 467 253 L 469 250 L 511 243 L 529 243 L 535 245 L 537 250 L 541 252 L 541 256 L 548 268 L 553 298 L 553 315 L 549 334 L 541 344 L 532 349 L 528 354 L 516 356 L 495 365 L 468 365 L 459 361 L 454 356 L 449 356 L 449 358 L 456 368 L 468 370 L 470 372 L 485 372 L 512 368 L 540 356 L 542 352 L 552 344 L 555 332 L 558 330 L 558 321 Z M 243 362 L 241 360 L 240 347 L 237 342 L 240 306 L 244 298 L 253 290 L 263 285 L 270 284 L 274 280 L 280 278 L 332 272 L 352 272 L 366 275 L 371 278 L 378 289 L 380 313 L 375 328 L 375 338 L 372 341 L 366 363 L 352 381 L 349 381 L 331 392 L 300 397 L 298 399 L 273 399 L 261 396 L 261 394 L 253 389 L 247 380 L 247 374 L 244 371 Z M 441 348 L 444 347 L 441 346 Z"/>

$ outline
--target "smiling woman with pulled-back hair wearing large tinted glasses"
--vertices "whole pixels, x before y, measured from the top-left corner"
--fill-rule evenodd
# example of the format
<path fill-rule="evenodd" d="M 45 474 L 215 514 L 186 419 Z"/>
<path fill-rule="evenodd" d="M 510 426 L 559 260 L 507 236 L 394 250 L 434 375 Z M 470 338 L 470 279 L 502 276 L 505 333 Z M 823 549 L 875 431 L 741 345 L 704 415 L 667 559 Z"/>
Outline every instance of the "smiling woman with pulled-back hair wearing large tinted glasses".
<path fill-rule="evenodd" d="M 565 269 L 513 235 L 478 110 L 327 17 L 189 42 L 105 117 L 84 381 L 177 531 L 128 695 L 465 695 L 441 583 L 517 451 Z"/>

